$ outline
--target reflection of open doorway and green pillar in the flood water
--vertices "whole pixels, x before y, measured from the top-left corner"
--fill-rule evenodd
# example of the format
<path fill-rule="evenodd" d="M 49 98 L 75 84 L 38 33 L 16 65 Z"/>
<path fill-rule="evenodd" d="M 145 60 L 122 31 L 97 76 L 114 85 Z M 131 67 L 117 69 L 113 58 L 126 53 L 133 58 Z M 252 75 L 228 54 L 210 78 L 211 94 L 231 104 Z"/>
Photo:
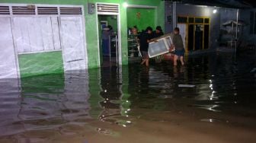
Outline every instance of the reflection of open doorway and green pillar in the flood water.
<path fill-rule="evenodd" d="M 127 75 L 126 75 L 127 76 Z M 126 79 L 123 78 L 123 67 L 101 68 L 101 92 L 104 100 L 100 101 L 103 109 L 98 117 L 103 122 L 110 122 L 126 127 L 131 124 L 129 94 L 126 94 Z"/>

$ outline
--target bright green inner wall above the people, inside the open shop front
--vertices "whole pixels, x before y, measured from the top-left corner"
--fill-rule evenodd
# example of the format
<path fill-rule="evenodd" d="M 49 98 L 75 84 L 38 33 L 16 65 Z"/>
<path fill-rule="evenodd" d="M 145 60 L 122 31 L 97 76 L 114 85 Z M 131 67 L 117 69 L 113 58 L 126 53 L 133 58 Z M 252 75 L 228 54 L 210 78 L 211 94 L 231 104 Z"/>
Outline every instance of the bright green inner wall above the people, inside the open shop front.
<path fill-rule="evenodd" d="M 155 8 L 127 8 L 128 27 L 136 25 L 139 31 L 146 30 L 149 26 L 154 29 L 155 17 Z"/>

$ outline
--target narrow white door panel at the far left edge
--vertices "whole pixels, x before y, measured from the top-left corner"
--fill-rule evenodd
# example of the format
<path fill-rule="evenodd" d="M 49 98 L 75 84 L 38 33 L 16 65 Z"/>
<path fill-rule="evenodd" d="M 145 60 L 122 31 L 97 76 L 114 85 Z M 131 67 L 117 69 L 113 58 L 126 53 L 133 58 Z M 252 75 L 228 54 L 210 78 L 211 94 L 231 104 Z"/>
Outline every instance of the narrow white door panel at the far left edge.
<path fill-rule="evenodd" d="M 0 17 L 0 78 L 18 78 L 18 66 L 11 33 L 11 18 Z"/>

